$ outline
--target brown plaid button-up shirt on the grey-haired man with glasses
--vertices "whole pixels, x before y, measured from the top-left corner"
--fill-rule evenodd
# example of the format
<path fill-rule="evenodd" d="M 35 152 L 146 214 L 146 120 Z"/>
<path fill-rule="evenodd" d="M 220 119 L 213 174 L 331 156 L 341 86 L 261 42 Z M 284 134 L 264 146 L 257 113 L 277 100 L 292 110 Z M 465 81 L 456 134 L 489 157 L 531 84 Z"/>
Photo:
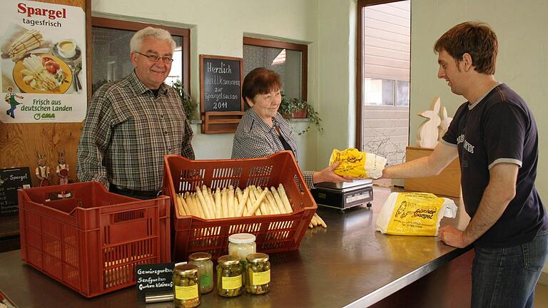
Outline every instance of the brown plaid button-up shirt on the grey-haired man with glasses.
<path fill-rule="evenodd" d="M 163 155 L 194 159 L 192 135 L 178 93 L 163 83 L 155 98 L 133 72 L 93 94 L 78 144 L 78 178 L 106 188 L 161 190 Z"/>

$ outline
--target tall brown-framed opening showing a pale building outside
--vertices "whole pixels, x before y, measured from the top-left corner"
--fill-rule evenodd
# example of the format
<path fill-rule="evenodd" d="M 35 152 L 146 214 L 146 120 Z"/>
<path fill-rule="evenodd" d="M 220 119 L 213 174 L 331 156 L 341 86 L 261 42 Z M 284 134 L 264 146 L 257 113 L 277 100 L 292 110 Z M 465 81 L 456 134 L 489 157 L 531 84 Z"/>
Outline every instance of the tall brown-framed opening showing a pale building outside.
<path fill-rule="evenodd" d="M 409 140 L 411 2 L 357 1 L 356 146 L 405 160 Z"/>

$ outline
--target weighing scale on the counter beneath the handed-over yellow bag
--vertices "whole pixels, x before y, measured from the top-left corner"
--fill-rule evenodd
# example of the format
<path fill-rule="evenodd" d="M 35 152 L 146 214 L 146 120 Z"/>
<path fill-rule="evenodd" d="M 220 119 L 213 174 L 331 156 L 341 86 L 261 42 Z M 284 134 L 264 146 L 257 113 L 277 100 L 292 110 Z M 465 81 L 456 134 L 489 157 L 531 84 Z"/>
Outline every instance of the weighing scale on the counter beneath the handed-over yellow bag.
<path fill-rule="evenodd" d="M 351 183 L 319 183 L 311 191 L 318 205 L 333 207 L 344 212 L 350 207 L 365 204 L 371 207 L 373 181 L 355 180 Z"/>

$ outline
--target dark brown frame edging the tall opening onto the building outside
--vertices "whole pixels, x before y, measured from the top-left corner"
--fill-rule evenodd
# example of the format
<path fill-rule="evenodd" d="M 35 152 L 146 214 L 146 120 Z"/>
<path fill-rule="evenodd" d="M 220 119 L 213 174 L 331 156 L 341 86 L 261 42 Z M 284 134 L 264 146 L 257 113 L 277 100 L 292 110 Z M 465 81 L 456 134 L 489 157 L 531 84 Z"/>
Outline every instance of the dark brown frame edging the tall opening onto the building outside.
<path fill-rule="evenodd" d="M 362 130 L 363 130 L 363 108 L 362 108 L 362 28 L 363 16 L 362 10 L 365 6 L 377 4 L 389 4 L 402 0 L 357 0 L 357 19 L 356 19 L 356 127 L 355 127 L 355 145 L 356 148 L 362 148 Z M 396 105 L 395 105 L 396 106 Z"/>

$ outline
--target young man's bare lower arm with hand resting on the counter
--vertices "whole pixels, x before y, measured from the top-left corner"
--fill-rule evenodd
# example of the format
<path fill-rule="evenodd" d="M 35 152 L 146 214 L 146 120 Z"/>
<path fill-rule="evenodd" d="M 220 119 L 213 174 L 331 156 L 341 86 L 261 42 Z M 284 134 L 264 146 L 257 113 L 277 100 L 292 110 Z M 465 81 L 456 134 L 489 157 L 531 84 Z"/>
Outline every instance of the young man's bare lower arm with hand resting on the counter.
<path fill-rule="evenodd" d="M 466 247 L 482 236 L 502 216 L 508 203 L 516 194 L 519 165 L 498 163 L 489 170 L 489 184 L 482 196 L 474 218 L 464 231 L 447 226 L 440 229 L 438 237 L 445 244 Z"/>

